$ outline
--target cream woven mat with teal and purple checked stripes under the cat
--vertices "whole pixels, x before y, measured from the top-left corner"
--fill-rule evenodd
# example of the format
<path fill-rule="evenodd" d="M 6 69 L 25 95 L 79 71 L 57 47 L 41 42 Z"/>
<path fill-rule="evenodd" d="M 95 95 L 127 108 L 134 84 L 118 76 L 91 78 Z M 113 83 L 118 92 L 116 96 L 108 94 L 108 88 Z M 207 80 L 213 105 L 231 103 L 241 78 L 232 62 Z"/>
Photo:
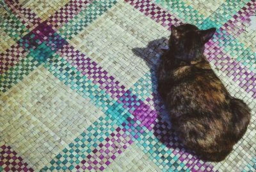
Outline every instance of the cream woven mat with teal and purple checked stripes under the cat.
<path fill-rule="evenodd" d="M 0 171 L 256 171 L 256 1 L 4 0 Z M 222 162 L 177 140 L 157 94 L 170 26 L 218 31 L 205 55 L 252 108 Z"/>

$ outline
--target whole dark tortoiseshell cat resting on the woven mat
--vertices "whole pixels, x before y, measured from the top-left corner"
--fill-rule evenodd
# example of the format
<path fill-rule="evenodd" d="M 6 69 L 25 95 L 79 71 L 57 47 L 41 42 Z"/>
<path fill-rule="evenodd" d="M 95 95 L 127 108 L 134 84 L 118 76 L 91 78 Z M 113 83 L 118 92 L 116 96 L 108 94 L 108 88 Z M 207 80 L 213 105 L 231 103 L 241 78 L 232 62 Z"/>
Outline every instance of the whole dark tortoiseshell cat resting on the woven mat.
<path fill-rule="evenodd" d="M 250 122 L 250 108 L 230 96 L 203 55 L 215 31 L 173 26 L 158 69 L 158 90 L 179 139 L 207 161 L 225 159 Z"/>

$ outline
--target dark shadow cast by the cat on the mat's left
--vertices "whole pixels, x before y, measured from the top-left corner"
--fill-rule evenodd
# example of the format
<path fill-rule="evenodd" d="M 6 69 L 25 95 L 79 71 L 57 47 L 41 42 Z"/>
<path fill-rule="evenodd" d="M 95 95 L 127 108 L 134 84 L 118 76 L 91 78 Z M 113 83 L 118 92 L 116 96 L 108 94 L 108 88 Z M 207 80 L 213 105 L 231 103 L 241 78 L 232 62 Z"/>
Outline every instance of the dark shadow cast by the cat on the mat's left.
<path fill-rule="evenodd" d="M 132 52 L 143 59 L 147 64 L 148 68 L 150 68 L 150 79 L 152 82 L 152 92 L 153 92 L 153 106 L 157 111 L 156 123 L 154 124 L 153 132 L 154 136 L 166 145 L 167 148 L 172 150 L 173 154 L 179 155 L 194 155 L 190 150 L 186 150 L 182 143 L 180 143 L 175 131 L 172 129 L 172 123 L 170 122 L 170 117 L 168 112 L 164 108 L 163 101 L 157 92 L 157 77 L 156 71 L 157 66 L 159 64 L 160 56 L 164 53 L 160 47 L 165 47 L 168 43 L 166 38 L 156 39 L 154 41 L 150 41 L 145 48 L 133 48 Z M 148 102 L 149 103 L 149 102 Z M 152 103 L 152 101 L 150 101 Z M 178 153 L 179 152 L 179 153 Z M 179 156 L 178 155 L 178 156 Z M 164 159 L 163 156 L 161 158 Z"/>

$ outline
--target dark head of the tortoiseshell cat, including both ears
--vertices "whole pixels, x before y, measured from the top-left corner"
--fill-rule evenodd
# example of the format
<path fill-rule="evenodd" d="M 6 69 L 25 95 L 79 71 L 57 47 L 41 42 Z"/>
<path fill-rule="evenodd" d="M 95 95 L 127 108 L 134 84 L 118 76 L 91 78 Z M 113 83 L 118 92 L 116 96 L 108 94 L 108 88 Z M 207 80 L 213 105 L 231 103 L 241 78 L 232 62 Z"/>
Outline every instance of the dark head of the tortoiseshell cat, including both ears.
<path fill-rule="evenodd" d="M 183 61 L 195 61 L 202 57 L 204 45 L 212 38 L 215 28 L 200 30 L 195 25 L 172 25 L 169 39 L 170 51 Z"/>

